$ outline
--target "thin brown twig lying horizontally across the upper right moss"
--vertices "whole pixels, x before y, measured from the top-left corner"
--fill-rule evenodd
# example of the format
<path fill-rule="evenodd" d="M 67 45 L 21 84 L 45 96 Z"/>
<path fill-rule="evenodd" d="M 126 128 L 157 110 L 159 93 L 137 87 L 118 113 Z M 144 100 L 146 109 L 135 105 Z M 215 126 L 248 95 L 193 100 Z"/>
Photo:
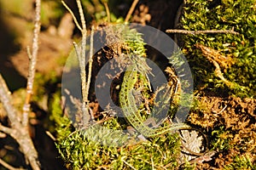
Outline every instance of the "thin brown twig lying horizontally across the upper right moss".
<path fill-rule="evenodd" d="M 166 30 L 166 33 L 172 34 L 235 34 L 238 35 L 239 33 L 232 30 L 203 30 L 203 31 L 188 31 L 188 30 Z"/>

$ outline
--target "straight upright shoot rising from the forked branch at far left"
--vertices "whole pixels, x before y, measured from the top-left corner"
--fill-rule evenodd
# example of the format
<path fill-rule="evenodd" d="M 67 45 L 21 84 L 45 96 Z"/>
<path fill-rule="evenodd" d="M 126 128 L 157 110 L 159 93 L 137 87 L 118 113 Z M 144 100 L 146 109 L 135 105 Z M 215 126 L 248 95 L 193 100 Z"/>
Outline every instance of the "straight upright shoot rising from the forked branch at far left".
<path fill-rule="evenodd" d="M 23 119 L 22 123 L 24 125 L 28 124 L 28 114 L 30 110 L 30 100 L 32 97 L 32 88 L 33 83 L 35 79 L 35 72 L 36 72 L 36 64 L 37 64 L 37 58 L 38 58 L 38 37 L 40 33 L 40 14 L 41 14 L 41 2 L 40 0 L 36 1 L 36 14 L 35 14 L 35 24 L 34 24 L 34 31 L 33 31 L 33 40 L 32 40 L 32 54 L 28 51 L 28 57 L 29 57 L 29 71 L 28 71 L 28 77 L 27 77 L 27 83 L 26 83 L 26 100 L 25 104 L 23 105 Z"/>

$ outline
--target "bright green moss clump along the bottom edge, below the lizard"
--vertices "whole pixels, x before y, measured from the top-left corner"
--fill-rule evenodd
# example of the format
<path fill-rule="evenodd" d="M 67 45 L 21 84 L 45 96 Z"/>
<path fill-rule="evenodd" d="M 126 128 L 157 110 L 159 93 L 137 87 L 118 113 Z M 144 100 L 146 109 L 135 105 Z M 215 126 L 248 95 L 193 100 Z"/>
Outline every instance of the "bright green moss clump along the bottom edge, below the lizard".
<path fill-rule="evenodd" d="M 83 131 L 73 131 L 71 122 L 62 116 L 58 94 L 54 95 L 51 103 L 50 119 L 56 122 L 56 145 L 68 169 L 172 169 L 178 165 L 180 140 L 177 134 L 163 135 L 137 144 L 131 142 L 120 147 L 102 145 L 88 139 Z"/>

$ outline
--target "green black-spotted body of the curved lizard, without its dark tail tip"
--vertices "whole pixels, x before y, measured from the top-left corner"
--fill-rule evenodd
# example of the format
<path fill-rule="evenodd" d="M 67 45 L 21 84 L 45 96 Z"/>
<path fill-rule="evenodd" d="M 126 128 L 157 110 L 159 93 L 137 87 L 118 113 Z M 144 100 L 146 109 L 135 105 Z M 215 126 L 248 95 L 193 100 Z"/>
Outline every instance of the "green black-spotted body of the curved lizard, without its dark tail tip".
<path fill-rule="evenodd" d="M 142 65 L 140 65 L 142 66 Z M 143 68 L 138 69 L 137 64 L 132 63 L 127 66 L 125 71 L 124 80 L 119 92 L 119 104 L 124 112 L 125 118 L 131 123 L 131 126 L 136 128 L 139 133 L 142 133 L 145 137 L 154 137 L 163 133 L 169 133 L 170 131 L 189 129 L 189 125 L 185 123 L 176 123 L 166 127 L 152 128 L 143 123 L 143 117 L 137 110 L 135 98 L 132 94 L 132 90 L 137 82 L 137 71 L 143 71 Z M 147 69 L 144 69 L 147 70 Z M 147 71 L 143 71 L 144 73 Z M 143 75 L 144 76 L 144 75 Z"/>

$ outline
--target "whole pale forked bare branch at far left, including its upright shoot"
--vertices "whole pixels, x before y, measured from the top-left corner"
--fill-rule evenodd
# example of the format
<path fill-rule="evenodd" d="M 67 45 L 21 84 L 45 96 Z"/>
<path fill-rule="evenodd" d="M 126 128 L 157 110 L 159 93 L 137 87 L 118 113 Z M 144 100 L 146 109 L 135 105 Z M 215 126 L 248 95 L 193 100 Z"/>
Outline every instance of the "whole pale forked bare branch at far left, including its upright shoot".
<path fill-rule="evenodd" d="M 14 138 L 17 143 L 20 145 L 20 151 L 24 154 L 26 162 L 30 164 L 33 170 L 40 169 L 40 163 L 38 162 L 38 152 L 35 149 L 32 139 L 29 136 L 27 124 L 28 124 L 28 113 L 30 108 L 30 99 L 32 96 L 32 87 L 35 77 L 35 66 L 37 62 L 38 55 L 38 34 L 40 32 L 40 8 L 41 1 L 36 0 L 36 14 L 35 14 L 35 23 L 32 39 L 32 54 L 28 51 L 28 57 L 30 59 L 29 63 L 29 73 L 27 78 L 26 86 L 26 101 L 23 106 L 23 120 L 20 121 L 21 113 L 16 111 L 15 107 L 11 105 L 11 95 L 9 89 L 7 88 L 6 83 L 3 80 L 3 77 L 0 74 L 0 101 L 3 103 L 3 108 L 5 109 L 7 116 L 9 118 L 10 126 L 3 127 L 1 126 L 1 131 L 9 133 L 9 135 Z M 29 50 L 29 48 L 28 48 Z"/>

